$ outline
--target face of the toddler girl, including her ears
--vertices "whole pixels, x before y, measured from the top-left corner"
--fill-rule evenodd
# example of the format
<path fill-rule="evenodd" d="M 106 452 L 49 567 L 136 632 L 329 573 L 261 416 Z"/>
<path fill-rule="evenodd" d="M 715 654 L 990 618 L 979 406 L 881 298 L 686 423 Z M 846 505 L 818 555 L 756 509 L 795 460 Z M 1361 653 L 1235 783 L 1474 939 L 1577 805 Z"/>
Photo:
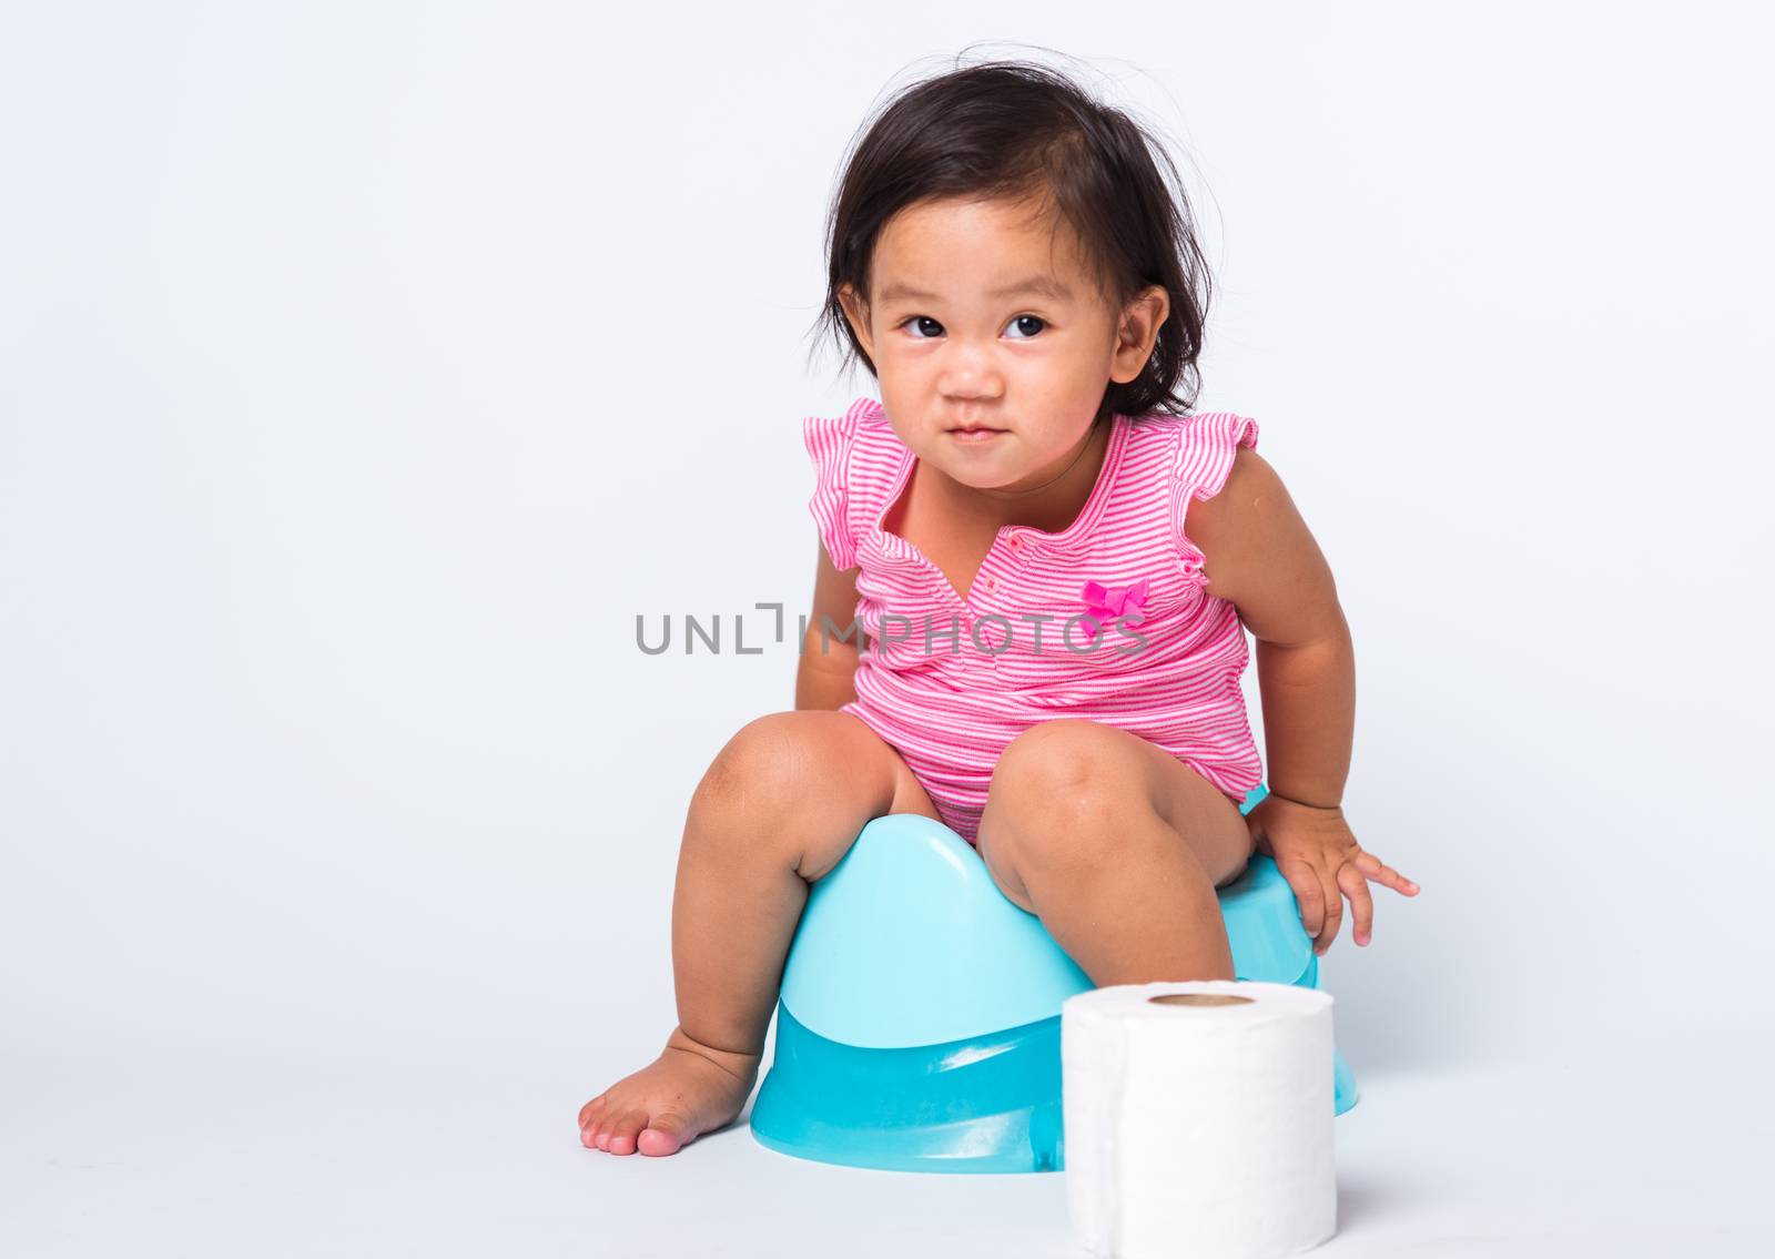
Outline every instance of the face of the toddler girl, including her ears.
<path fill-rule="evenodd" d="M 1157 284 L 1111 311 L 1056 222 L 1033 202 L 918 202 L 877 238 L 868 300 L 840 291 L 895 432 L 974 488 L 1042 485 L 1063 467 L 1170 311 Z M 1026 281 L 1047 291 L 1010 291 Z M 999 432 L 969 439 L 960 424 Z"/>

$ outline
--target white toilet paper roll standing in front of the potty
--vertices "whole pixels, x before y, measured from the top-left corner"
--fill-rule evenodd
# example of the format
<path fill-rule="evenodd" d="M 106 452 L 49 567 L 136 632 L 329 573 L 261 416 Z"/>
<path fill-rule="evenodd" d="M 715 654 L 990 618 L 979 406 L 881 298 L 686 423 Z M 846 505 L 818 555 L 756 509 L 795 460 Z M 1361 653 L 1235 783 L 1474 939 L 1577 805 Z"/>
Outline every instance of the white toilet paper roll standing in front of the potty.
<path fill-rule="evenodd" d="M 1337 1232 L 1331 996 L 1116 984 L 1060 1007 L 1067 1206 L 1104 1259 L 1269 1259 Z"/>

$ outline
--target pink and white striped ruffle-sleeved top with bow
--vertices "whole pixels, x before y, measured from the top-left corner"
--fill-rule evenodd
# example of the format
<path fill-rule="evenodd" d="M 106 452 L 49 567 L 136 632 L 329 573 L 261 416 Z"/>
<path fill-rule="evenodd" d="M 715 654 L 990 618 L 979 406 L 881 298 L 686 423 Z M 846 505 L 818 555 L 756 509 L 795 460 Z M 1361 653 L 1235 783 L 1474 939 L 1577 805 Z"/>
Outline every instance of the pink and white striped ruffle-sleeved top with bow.
<path fill-rule="evenodd" d="M 872 639 L 857 698 L 840 712 L 900 751 L 969 843 L 1005 746 L 1053 717 L 1129 730 L 1234 803 L 1262 780 L 1239 685 L 1244 627 L 1207 593 L 1203 554 L 1184 536 L 1191 497 L 1219 492 L 1234 451 L 1257 446 L 1257 421 L 1209 412 L 1111 424 L 1077 519 L 1060 533 L 999 529 L 962 598 L 882 529 L 916 462 L 882 403 L 857 398 L 843 416 L 802 419 L 808 508 L 832 563 L 857 568 L 857 625 Z"/>

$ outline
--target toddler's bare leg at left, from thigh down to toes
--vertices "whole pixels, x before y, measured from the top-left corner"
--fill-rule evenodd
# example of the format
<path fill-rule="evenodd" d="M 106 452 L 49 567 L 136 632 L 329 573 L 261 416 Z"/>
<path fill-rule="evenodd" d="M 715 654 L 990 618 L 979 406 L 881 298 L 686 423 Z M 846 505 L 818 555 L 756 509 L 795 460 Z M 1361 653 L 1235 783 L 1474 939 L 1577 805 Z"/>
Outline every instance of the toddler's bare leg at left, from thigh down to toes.
<path fill-rule="evenodd" d="M 678 847 L 678 1026 L 653 1064 L 580 1108 L 584 1145 L 673 1154 L 738 1117 L 808 884 L 886 813 L 937 817 L 900 753 L 848 712 L 774 712 L 728 740 Z"/>

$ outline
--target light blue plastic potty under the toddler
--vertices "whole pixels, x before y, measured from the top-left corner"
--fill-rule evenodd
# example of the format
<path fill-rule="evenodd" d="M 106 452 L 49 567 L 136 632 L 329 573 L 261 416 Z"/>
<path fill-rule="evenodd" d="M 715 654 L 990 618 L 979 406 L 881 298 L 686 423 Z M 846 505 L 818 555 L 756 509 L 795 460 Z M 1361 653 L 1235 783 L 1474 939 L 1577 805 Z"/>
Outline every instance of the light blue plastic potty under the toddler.
<path fill-rule="evenodd" d="M 1237 978 L 1317 987 L 1271 858 L 1253 854 L 1219 904 Z M 847 1167 L 1058 1172 L 1060 1003 L 1092 987 L 967 840 L 918 813 L 877 817 L 808 893 L 753 1136 Z M 1342 1115 L 1356 1081 L 1335 1049 L 1328 1065 Z"/>

